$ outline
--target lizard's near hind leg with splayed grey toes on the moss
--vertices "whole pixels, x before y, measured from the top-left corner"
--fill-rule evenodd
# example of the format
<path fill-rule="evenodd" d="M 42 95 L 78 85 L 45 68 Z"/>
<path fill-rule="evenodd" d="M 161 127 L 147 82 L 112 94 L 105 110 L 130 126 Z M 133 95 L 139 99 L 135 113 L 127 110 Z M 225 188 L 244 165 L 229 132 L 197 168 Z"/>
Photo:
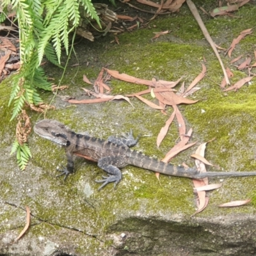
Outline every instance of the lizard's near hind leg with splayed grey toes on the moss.
<path fill-rule="evenodd" d="M 116 187 L 116 184 L 120 182 L 122 179 L 122 172 L 120 171 L 120 167 L 124 167 L 125 161 L 120 156 L 108 156 L 108 157 L 102 157 L 98 161 L 98 166 L 102 170 L 108 172 L 108 177 L 102 176 L 102 180 L 95 180 L 97 183 L 103 183 L 98 190 L 102 189 L 104 186 L 106 186 L 110 182 L 114 183 L 114 188 Z M 118 167 L 116 167 L 118 166 Z"/>

